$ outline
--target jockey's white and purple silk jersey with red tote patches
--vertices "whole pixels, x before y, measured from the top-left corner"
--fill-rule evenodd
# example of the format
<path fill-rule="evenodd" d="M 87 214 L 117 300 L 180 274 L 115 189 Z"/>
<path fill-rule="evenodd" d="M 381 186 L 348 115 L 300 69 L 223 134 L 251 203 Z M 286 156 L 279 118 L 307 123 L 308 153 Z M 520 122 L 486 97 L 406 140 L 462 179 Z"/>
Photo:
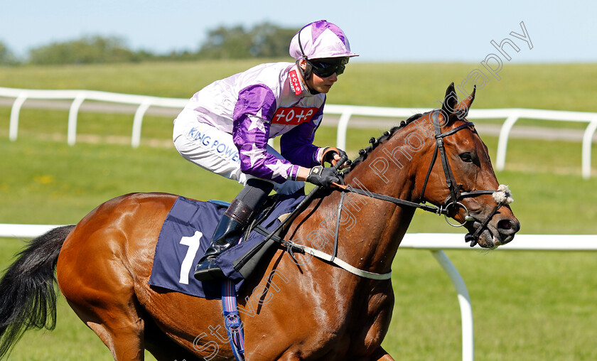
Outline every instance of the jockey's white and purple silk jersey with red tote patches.
<path fill-rule="evenodd" d="M 282 183 L 294 180 L 299 166 L 318 165 L 313 137 L 325 103 L 325 94 L 312 95 L 302 84 L 294 63 L 267 63 L 204 87 L 184 112 L 232 134 L 243 173 Z M 276 136 L 285 159 L 267 152 Z"/>

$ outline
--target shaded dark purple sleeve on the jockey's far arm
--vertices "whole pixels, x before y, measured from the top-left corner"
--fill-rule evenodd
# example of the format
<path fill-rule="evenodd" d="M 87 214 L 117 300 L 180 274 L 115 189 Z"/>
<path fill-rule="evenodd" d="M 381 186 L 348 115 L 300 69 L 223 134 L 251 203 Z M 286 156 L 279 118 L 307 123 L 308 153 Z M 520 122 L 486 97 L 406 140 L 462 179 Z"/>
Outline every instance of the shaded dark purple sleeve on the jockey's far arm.
<path fill-rule="evenodd" d="M 315 139 L 315 131 L 321 124 L 322 116 L 323 104 L 316 114 L 313 114 L 311 122 L 295 126 L 280 137 L 280 153 L 284 158 L 306 168 L 319 165 L 317 159 L 319 147 L 313 145 L 313 139 Z M 320 122 L 316 125 L 315 121 L 318 119 Z"/>

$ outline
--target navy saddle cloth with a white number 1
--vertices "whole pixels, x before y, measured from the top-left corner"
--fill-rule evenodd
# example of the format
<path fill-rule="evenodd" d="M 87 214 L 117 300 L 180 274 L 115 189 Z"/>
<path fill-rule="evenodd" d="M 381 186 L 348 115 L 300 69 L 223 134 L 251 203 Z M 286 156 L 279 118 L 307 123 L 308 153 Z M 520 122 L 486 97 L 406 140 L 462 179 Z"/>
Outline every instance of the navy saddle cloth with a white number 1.
<path fill-rule="evenodd" d="M 291 212 L 301 202 L 304 195 L 275 195 L 275 203 L 269 215 L 261 222 L 262 227 L 274 230 L 279 225 L 278 217 Z M 199 259 L 205 254 L 217 222 L 226 208 L 211 202 L 201 202 L 179 197 L 163 222 L 154 266 L 151 269 L 149 284 L 177 291 L 190 296 L 221 298 L 219 282 L 195 280 L 193 273 Z M 251 232 L 249 237 L 231 247 L 217 257 L 216 262 L 224 274 L 235 282 L 236 292 L 244 283 L 247 272 L 235 266 L 244 254 L 256 247 L 265 237 Z"/>

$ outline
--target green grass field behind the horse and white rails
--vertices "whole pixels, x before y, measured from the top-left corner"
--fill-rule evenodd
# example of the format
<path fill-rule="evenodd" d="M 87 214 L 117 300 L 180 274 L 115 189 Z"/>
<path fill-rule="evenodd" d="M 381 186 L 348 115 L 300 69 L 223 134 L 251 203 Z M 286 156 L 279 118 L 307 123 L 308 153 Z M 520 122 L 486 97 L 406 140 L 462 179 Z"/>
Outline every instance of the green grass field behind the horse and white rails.
<path fill-rule="evenodd" d="M 0 86 L 190 97 L 207 82 L 253 63 L 0 68 Z M 351 63 L 328 103 L 431 109 L 449 82 L 461 82 L 477 66 Z M 597 111 L 597 84 L 591 81 L 596 64 L 507 64 L 501 75 L 500 82 L 478 91 L 473 107 Z M 131 149 L 126 142 L 105 142 L 129 139 L 132 114 L 80 114 L 79 142 L 73 147 L 65 141 L 67 112 L 23 109 L 15 142 L 8 140 L 9 114 L 9 108 L 0 107 L 0 223 L 73 223 L 99 203 L 134 191 L 230 200 L 240 190 L 176 153 L 169 143 L 171 119 L 146 117 L 141 146 Z M 372 128 L 349 129 L 350 155 L 386 130 Z M 87 135 L 99 136 L 99 143 L 85 141 Z M 497 139 L 481 136 L 495 157 Z M 334 142 L 335 129 L 322 126 L 316 144 Z M 497 178 L 514 193 L 512 210 L 521 233 L 597 234 L 597 181 L 595 176 L 583 180 L 580 168 L 579 142 L 510 140 L 506 170 Z M 460 231 L 440 217 L 417 213 L 409 232 Z M 22 246 L 19 240 L 0 239 L 0 268 Z M 596 254 L 502 249 L 446 254 L 473 302 L 476 360 L 597 360 Z M 402 250 L 393 271 L 396 304 L 384 347 L 397 360 L 461 359 L 456 293 L 431 254 Z M 9 360 L 112 357 L 60 298 L 56 330 L 26 333 Z"/>

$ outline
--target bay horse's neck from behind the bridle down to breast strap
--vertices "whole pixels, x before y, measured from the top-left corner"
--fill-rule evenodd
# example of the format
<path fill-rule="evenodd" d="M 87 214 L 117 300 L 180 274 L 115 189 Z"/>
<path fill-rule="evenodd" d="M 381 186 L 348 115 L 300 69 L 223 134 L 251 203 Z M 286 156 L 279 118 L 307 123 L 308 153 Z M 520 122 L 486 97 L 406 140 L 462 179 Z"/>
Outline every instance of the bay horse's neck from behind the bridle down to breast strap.
<path fill-rule="evenodd" d="M 395 135 L 370 151 L 365 161 L 345 176 L 345 184 L 365 190 L 365 193 L 415 201 L 415 179 L 422 152 L 412 153 L 409 162 L 397 163 L 394 157 L 404 139 Z M 296 237 L 296 242 L 333 252 L 337 234 L 340 259 L 365 271 L 386 273 L 391 269 L 394 255 L 407 232 L 414 208 L 347 192 L 338 216 L 341 198 L 342 193 L 334 191 L 313 201 L 293 222 L 289 235 Z"/>

